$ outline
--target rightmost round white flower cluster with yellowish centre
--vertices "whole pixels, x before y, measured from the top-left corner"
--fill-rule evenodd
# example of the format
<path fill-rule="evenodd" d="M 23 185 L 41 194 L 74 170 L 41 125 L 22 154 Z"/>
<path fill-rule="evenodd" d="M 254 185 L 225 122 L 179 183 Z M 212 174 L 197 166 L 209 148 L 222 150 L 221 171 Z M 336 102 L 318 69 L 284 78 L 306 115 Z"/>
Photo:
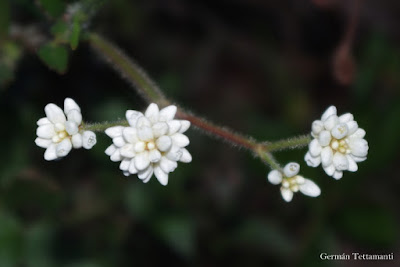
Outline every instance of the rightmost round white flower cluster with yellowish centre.
<path fill-rule="evenodd" d="M 312 123 L 311 135 L 314 139 L 304 160 L 311 167 L 322 164 L 326 174 L 335 179 L 342 178 L 343 171 L 357 171 L 357 162 L 367 159 L 365 131 L 358 128 L 351 113 L 338 117 L 335 106 L 329 107 L 321 120 Z"/>

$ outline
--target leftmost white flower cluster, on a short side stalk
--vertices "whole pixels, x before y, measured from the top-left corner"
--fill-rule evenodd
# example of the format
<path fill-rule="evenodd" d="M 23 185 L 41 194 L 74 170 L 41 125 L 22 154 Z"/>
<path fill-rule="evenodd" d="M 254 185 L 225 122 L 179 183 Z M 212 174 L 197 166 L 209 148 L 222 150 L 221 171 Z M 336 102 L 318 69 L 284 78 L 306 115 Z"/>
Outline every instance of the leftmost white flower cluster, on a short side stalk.
<path fill-rule="evenodd" d="M 96 144 L 92 131 L 83 131 L 81 109 L 71 98 L 64 101 L 64 111 L 55 104 L 44 108 L 46 117 L 37 121 L 36 145 L 46 148 L 45 160 L 68 155 L 72 148 L 91 149 Z"/>

